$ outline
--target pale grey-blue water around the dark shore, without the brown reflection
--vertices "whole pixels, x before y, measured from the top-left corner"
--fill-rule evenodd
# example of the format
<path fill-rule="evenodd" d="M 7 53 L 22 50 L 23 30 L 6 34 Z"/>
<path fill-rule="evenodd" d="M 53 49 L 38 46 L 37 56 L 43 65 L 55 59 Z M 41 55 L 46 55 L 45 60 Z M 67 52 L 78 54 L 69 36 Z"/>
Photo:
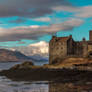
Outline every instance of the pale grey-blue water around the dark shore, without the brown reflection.
<path fill-rule="evenodd" d="M 20 62 L 19 62 L 20 63 Z M 0 70 L 9 69 L 15 64 L 12 63 L 0 63 Z M 48 63 L 48 62 L 46 62 Z M 43 63 L 35 62 L 35 65 L 43 65 Z M 48 82 L 15 82 L 7 79 L 6 77 L 0 76 L 0 92 L 48 92 Z"/>

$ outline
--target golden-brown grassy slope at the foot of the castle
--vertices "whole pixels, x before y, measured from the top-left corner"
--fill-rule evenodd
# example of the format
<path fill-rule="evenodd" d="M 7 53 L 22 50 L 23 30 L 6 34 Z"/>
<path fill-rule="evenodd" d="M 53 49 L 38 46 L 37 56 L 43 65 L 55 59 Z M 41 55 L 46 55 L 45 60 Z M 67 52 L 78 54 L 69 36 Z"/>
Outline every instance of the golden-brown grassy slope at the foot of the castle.
<path fill-rule="evenodd" d="M 82 68 L 84 66 L 87 67 L 92 67 L 92 58 L 74 58 L 74 57 L 71 57 L 71 58 L 65 58 L 64 60 L 61 60 L 59 62 L 53 62 L 53 64 L 51 64 L 52 67 L 56 67 L 56 68 L 61 68 L 61 67 L 64 67 L 64 68 L 69 68 L 69 67 L 81 67 Z M 51 67 L 50 66 L 50 67 Z M 91 68 L 92 70 L 92 68 Z"/>

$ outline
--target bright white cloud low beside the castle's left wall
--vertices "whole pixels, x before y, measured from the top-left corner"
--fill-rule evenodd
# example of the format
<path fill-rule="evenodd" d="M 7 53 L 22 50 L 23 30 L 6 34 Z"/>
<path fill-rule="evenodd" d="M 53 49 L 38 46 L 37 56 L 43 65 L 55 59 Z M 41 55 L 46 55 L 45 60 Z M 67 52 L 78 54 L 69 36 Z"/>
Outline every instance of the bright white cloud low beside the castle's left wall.
<path fill-rule="evenodd" d="M 40 55 L 44 57 L 48 57 L 48 52 L 49 52 L 49 43 L 45 41 L 40 41 L 34 44 L 30 44 L 26 47 L 13 47 L 13 48 L 8 48 L 11 50 L 17 50 L 22 52 L 23 54 L 27 56 L 34 56 L 34 55 Z"/>

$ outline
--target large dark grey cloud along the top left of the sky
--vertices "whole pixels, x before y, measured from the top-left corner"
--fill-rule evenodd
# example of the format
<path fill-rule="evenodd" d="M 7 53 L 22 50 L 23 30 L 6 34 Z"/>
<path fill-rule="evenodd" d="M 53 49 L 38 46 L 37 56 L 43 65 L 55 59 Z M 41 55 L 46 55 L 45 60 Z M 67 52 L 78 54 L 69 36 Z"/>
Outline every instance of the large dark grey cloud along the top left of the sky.
<path fill-rule="evenodd" d="M 68 0 L 0 0 L 0 17 L 39 17 L 53 12 L 52 7 L 71 5 Z"/>

